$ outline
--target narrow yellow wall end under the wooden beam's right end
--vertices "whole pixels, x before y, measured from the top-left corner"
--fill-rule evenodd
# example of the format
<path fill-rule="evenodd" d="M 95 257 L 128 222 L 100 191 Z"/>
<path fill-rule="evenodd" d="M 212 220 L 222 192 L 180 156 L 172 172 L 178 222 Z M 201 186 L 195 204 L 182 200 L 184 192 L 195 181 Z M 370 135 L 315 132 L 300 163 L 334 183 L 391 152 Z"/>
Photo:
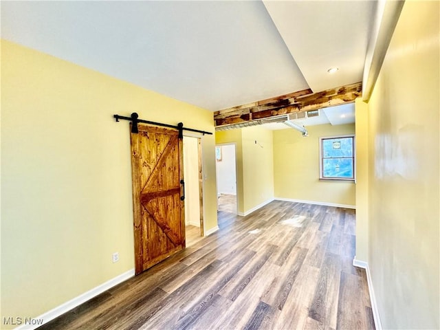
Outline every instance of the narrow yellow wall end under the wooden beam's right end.
<path fill-rule="evenodd" d="M 356 131 L 356 260 L 369 260 L 369 107 L 357 98 Z"/>

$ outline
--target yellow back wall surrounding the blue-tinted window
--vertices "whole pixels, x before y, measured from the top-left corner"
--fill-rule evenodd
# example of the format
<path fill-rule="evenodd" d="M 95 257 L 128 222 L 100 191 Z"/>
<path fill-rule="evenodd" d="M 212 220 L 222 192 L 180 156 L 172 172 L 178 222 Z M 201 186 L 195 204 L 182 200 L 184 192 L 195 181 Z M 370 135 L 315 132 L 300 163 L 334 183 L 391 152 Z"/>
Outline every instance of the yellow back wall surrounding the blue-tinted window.
<path fill-rule="evenodd" d="M 354 134 L 354 124 L 309 126 L 308 137 L 294 129 L 274 131 L 275 197 L 355 206 L 353 181 L 319 179 L 319 138 Z"/>

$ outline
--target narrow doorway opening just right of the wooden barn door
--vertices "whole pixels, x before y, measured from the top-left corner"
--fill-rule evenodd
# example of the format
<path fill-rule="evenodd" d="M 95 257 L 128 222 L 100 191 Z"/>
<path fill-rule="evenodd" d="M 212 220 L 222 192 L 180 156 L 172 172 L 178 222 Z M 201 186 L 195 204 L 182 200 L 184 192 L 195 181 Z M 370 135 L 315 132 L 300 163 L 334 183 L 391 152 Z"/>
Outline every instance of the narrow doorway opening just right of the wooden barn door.
<path fill-rule="evenodd" d="M 203 238 L 203 174 L 201 138 L 184 135 L 186 247 Z"/>

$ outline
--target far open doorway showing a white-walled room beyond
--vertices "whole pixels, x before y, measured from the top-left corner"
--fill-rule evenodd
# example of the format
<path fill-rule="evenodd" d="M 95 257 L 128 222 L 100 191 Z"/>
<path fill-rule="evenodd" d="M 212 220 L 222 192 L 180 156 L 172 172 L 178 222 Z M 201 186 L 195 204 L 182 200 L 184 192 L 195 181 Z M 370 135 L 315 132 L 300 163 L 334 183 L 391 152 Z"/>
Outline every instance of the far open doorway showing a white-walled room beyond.
<path fill-rule="evenodd" d="M 217 210 L 237 214 L 235 144 L 215 146 Z"/>

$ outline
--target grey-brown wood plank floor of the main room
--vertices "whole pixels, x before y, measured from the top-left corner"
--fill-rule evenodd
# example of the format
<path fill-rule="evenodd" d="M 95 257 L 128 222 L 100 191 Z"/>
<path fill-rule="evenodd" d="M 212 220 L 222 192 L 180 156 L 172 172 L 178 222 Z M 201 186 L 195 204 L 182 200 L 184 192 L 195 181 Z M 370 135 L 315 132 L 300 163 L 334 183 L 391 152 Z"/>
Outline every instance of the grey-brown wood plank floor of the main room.
<path fill-rule="evenodd" d="M 374 329 L 354 210 L 273 201 L 41 329 Z"/>

